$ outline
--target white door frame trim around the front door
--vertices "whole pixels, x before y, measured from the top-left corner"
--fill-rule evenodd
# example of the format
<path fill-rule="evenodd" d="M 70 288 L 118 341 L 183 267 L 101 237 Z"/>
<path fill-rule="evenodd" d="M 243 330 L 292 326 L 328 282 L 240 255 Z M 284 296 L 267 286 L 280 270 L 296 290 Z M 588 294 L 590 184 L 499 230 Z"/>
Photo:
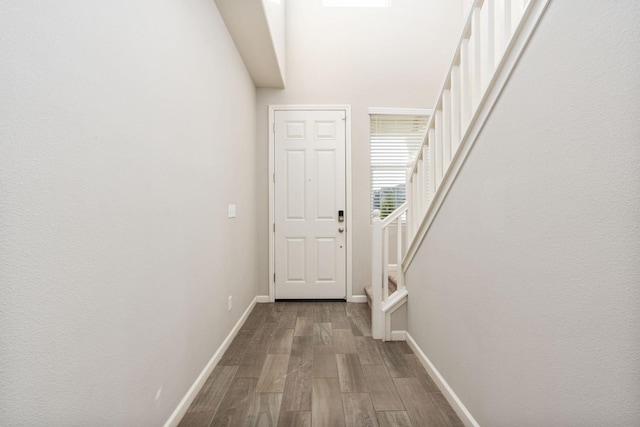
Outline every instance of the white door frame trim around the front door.
<path fill-rule="evenodd" d="M 346 242 L 346 296 L 347 301 L 353 300 L 352 295 L 352 279 L 353 279 L 353 265 L 352 265 L 352 218 L 353 208 L 351 206 L 351 105 L 269 105 L 269 174 L 267 179 L 269 180 L 269 301 L 275 301 L 275 231 L 273 229 L 275 224 L 275 188 L 273 182 L 273 176 L 275 173 L 275 117 L 276 111 L 344 111 L 345 112 L 345 197 L 346 197 L 346 227 L 347 235 Z"/>

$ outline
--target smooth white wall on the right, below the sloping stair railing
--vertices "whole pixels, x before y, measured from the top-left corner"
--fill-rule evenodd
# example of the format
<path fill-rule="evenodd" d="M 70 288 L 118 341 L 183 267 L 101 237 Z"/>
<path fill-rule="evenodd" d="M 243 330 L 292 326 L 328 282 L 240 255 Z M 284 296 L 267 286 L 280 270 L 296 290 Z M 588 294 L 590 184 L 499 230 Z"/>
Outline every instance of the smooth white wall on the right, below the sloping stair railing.
<path fill-rule="evenodd" d="M 640 5 L 551 1 L 407 275 L 480 425 L 640 425 Z"/>

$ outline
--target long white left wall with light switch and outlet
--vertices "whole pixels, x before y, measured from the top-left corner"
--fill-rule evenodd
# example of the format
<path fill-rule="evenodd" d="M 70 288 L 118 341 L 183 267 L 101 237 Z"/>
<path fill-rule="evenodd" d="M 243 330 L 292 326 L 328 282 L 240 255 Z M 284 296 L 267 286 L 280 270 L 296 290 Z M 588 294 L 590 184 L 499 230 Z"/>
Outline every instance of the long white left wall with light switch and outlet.
<path fill-rule="evenodd" d="M 211 1 L 0 28 L 0 424 L 162 425 L 256 295 L 254 87 Z"/>

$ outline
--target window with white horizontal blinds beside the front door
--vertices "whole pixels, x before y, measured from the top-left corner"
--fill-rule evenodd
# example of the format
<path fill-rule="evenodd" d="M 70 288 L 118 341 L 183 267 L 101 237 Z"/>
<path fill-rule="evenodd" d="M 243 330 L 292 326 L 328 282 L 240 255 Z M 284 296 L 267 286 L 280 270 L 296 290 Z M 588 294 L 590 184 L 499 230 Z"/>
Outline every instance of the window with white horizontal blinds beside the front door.
<path fill-rule="evenodd" d="M 371 210 L 385 218 L 405 201 L 407 169 L 422 146 L 430 110 L 369 109 Z"/>

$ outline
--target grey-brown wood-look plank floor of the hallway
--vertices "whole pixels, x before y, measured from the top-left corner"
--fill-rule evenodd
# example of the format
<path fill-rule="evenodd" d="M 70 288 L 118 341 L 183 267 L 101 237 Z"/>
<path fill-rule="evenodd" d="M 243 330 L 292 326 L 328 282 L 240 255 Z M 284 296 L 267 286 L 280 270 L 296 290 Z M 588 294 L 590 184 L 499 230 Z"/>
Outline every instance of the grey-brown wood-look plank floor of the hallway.
<path fill-rule="evenodd" d="M 405 342 L 371 338 L 366 304 L 258 304 L 180 427 L 462 426 Z"/>

